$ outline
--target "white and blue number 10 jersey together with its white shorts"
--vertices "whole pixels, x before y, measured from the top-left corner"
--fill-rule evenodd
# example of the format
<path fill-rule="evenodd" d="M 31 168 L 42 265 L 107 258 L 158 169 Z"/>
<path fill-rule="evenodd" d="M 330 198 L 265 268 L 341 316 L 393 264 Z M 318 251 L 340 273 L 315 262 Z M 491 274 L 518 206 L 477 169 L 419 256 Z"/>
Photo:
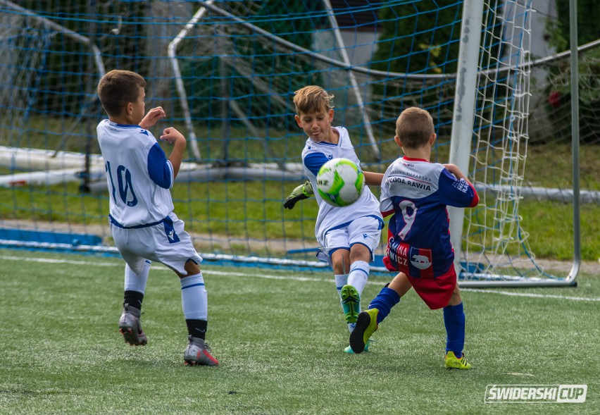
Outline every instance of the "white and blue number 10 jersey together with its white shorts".
<path fill-rule="evenodd" d="M 148 130 L 102 120 L 96 128 L 104 157 L 109 215 L 115 246 L 136 274 L 146 260 L 186 275 L 185 264 L 199 264 L 184 222 L 173 212 L 173 165 Z"/>

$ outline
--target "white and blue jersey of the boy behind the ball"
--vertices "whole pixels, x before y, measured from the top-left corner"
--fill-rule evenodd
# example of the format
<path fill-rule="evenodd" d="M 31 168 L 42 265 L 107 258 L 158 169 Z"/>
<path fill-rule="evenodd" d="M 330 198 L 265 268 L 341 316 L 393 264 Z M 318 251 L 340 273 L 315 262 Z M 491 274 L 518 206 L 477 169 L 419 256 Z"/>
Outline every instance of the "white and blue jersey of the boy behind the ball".
<path fill-rule="evenodd" d="M 337 144 L 330 142 L 314 142 L 311 138 L 306 140 L 304 150 L 302 150 L 302 166 L 304 174 L 311 180 L 311 185 L 315 190 L 315 199 L 319 205 L 317 222 L 315 223 L 315 237 L 322 247 L 325 247 L 325 235 L 330 230 L 335 230 L 347 226 L 357 218 L 370 216 L 383 224 L 383 219 L 379 210 L 377 197 L 373 195 L 368 186 L 363 188 L 361 197 L 349 206 L 337 207 L 327 204 L 319 196 L 317 189 L 317 174 L 323 164 L 331 159 L 342 157 L 356 163 L 360 168 L 361 162 L 354 152 L 354 146 L 350 141 L 348 130 L 343 127 L 336 127 L 339 133 Z M 380 227 L 381 228 L 381 227 Z"/>

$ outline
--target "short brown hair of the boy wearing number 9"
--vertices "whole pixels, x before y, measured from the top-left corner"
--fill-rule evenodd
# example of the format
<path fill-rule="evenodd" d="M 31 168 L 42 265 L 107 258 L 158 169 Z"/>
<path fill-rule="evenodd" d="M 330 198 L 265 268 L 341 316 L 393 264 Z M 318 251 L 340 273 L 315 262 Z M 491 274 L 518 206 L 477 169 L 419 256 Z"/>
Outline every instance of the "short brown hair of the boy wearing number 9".
<path fill-rule="evenodd" d="M 402 111 L 396 120 L 396 136 L 403 147 L 416 149 L 429 141 L 435 133 L 433 118 L 424 109 L 411 106 Z"/>

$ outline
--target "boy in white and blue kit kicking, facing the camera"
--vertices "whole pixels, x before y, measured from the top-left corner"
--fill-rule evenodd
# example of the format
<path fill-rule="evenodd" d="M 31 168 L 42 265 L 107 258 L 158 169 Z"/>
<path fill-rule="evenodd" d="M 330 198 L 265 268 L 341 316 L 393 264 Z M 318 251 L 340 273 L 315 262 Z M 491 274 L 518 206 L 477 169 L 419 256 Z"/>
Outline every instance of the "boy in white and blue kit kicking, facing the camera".
<path fill-rule="evenodd" d="M 332 99 L 332 95 L 316 86 L 299 89 L 294 95 L 296 123 L 308 135 L 302 151 L 302 164 L 313 188 L 316 188 L 320 167 L 331 159 L 343 157 L 360 167 L 346 128 L 331 126 Z M 381 185 L 382 174 L 363 173 L 367 185 Z M 315 199 L 319 204 L 315 224 L 315 236 L 320 247 L 318 257 L 333 268 L 346 323 L 352 331 L 361 312 L 361 293 L 369 276 L 369 262 L 373 259 L 373 250 L 379 244 L 383 227 L 379 202 L 368 187 L 350 206 L 331 206 L 318 194 L 315 194 Z M 346 347 L 345 351 L 352 353 L 350 347 Z"/>

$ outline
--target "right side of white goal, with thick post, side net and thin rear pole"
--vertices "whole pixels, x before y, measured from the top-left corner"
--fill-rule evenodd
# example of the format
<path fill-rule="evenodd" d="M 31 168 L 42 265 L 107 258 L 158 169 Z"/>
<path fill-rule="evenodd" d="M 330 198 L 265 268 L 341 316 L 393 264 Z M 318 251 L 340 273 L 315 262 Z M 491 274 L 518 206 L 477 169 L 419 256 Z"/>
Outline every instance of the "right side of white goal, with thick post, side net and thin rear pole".
<path fill-rule="evenodd" d="M 482 112 L 489 105 L 501 106 L 506 118 L 501 125 L 504 134 L 503 143 L 495 146 L 501 148 L 503 155 L 501 162 L 508 167 L 501 169 L 499 192 L 496 193 L 495 202 L 498 200 L 508 202 L 512 206 L 505 209 L 499 218 L 498 210 L 494 211 L 494 221 L 501 222 L 504 233 L 491 235 L 494 240 L 492 247 L 482 247 L 479 252 L 472 252 L 469 243 L 463 249 L 463 225 L 465 220 L 465 209 L 449 207 L 451 242 L 455 252 L 455 267 L 461 275 L 461 286 L 464 287 L 522 287 L 522 286 L 565 286 L 575 285 L 575 278 L 581 263 L 580 246 L 580 190 L 579 190 L 579 116 L 577 106 L 578 79 L 577 70 L 571 70 L 571 94 L 572 101 L 572 143 L 573 143 L 573 266 L 570 273 L 563 278 L 546 275 L 542 268 L 535 264 L 535 256 L 527 252 L 525 262 L 515 261 L 507 247 L 512 242 L 516 244 L 527 244 L 526 233 L 520 228 L 520 216 L 518 215 L 518 201 L 522 198 L 521 185 L 527 149 L 527 116 L 530 99 L 530 21 L 529 15 L 533 12 L 531 0 L 506 0 L 504 3 L 504 16 L 499 19 L 503 25 L 502 46 L 505 47 L 501 53 L 510 56 L 508 61 L 503 62 L 502 56 L 485 56 L 486 50 L 480 49 L 480 44 L 485 44 L 485 39 L 480 39 L 482 33 L 482 21 L 484 9 L 489 10 L 489 4 L 485 0 L 465 0 L 463 6 L 463 25 L 461 27 L 461 49 L 458 57 L 458 71 L 456 78 L 456 95 L 454 102 L 454 116 L 451 134 L 450 162 L 454 163 L 463 172 L 469 172 L 470 180 L 478 182 L 480 173 L 476 166 L 469 166 L 470 160 L 481 159 L 480 151 L 488 142 L 483 137 L 485 128 L 496 128 L 496 125 L 485 120 L 484 114 L 475 114 L 477 102 Z M 577 65 L 577 13 L 576 0 L 570 1 L 570 48 L 571 68 Z M 512 13 L 508 15 L 508 13 Z M 510 35 L 506 35 L 510 33 Z M 485 37 L 487 34 L 483 32 Z M 500 48 L 502 50 L 502 48 Z M 496 59 L 496 73 L 487 69 L 486 63 Z M 504 66 L 503 66 L 504 65 Z M 496 85 L 493 86 L 491 98 L 487 95 L 488 82 L 492 83 L 498 78 L 498 73 L 508 73 L 506 76 L 506 98 L 496 100 Z M 475 127 L 474 127 L 475 125 Z M 483 144 L 483 145 L 482 145 Z M 472 167 L 472 168 L 470 168 Z M 486 172 L 487 174 L 487 172 Z M 482 180 L 485 182 L 485 179 Z M 501 188 L 500 188 L 501 187 Z M 484 190 L 485 193 L 485 190 Z M 482 204 L 489 204 L 487 199 L 482 198 Z M 482 209 L 487 209 L 483 206 Z M 508 211 L 508 212 L 507 212 Z M 509 217 L 506 213 L 511 213 Z M 483 226 L 485 232 L 495 233 L 502 226 Z M 508 228 L 508 229 L 507 229 Z M 525 237 L 522 237 L 525 235 Z M 533 277 L 524 278 L 518 268 L 532 267 Z M 508 272 L 507 272 L 508 271 Z M 513 273 L 511 271 L 517 271 Z M 525 272 L 527 273 L 527 272 Z M 516 274 L 516 275 L 515 275 Z M 550 276 L 551 278 L 546 278 Z"/>

